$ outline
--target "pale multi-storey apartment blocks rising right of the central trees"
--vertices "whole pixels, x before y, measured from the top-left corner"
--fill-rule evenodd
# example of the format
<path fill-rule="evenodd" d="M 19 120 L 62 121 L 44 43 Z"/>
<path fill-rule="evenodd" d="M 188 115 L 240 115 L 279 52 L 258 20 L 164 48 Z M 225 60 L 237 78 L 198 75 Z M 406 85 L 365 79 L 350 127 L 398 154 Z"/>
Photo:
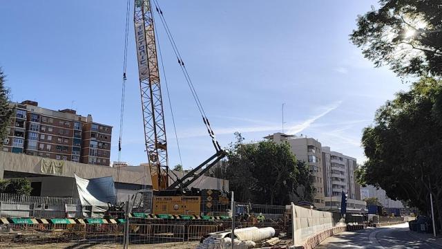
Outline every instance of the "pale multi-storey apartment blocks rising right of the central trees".
<path fill-rule="evenodd" d="M 356 183 L 354 172 L 357 169 L 356 158 L 331 151 L 323 147 L 314 138 L 306 136 L 274 133 L 265 139 L 273 142 L 288 142 L 296 159 L 307 163 L 314 176 L 314 205 L 323 210 L 340 209 L 342 192 L 348 195 L 349 212 L 365 210 L 365 201 L 361 201 L 360 186 Z"/>

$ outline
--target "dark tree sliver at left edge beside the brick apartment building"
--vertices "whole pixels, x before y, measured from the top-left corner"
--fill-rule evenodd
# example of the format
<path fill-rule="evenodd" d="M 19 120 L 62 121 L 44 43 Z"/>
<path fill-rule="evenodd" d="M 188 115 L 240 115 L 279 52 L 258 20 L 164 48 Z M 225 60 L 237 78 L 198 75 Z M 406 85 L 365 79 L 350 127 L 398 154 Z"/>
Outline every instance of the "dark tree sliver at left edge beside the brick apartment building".
<path fill-rule="evenodd" d="M 9 89 L 6 88 L 5 81 L 5 75 L 0 68 L 0 147 L 8 136 L 7 128 L 14 111 L 9 105 Z"/>

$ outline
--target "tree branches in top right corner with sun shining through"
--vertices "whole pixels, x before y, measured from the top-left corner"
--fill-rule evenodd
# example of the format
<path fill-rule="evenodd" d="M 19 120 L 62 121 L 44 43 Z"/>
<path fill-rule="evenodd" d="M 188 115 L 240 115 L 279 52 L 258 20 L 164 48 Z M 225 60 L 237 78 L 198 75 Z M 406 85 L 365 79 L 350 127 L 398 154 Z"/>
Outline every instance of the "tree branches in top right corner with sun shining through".
<path fill-rule="evenodd" d="M 442 1 L 380 0 L 358 16 L 350 40 L 398 75 L 442 76 Z"/>

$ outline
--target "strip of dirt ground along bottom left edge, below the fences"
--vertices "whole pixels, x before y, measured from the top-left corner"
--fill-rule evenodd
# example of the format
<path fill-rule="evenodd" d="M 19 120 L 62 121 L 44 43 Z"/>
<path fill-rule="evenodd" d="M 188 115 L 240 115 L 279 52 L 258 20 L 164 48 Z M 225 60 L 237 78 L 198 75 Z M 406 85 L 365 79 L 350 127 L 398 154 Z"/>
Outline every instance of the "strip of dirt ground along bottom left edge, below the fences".
<path fill-rule="evenodd" d="M 143 244 L 143 245 L 129 245 L 133 249 L 154 249 L 154 248 L 177 248 L 177 249 L 193 249 L 198 246 L 199 241 L 190 242 L 173 242 L 173 243 L 157 243 L 157 244 Z M 117 249 L 123 248 L 122 244 L 110 243 L 46 243 L 46 244 L 32 244 L 32 243 L 0 243 L 0 248 L 26 248 L 26 249 Z"/>

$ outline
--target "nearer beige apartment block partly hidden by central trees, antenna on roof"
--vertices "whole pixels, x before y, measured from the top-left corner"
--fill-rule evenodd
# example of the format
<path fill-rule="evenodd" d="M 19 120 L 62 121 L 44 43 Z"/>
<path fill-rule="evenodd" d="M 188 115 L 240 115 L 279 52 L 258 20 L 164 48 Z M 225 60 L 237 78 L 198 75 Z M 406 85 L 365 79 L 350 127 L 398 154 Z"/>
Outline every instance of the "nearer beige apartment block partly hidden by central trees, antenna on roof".
<path fill-rule="evenodd" d="M 314 187 L 316 188 L 314 204 L 316 208 L 325 208 L 323 154 L 320 142 L 314 138 L 287 135 L 280 132 L 266 136 L 265 139 L 276 143 L 288 142 L 291 152 L 296 155 L 296 158 L 307 163 L 310 172 L 314 175 Z"/>

